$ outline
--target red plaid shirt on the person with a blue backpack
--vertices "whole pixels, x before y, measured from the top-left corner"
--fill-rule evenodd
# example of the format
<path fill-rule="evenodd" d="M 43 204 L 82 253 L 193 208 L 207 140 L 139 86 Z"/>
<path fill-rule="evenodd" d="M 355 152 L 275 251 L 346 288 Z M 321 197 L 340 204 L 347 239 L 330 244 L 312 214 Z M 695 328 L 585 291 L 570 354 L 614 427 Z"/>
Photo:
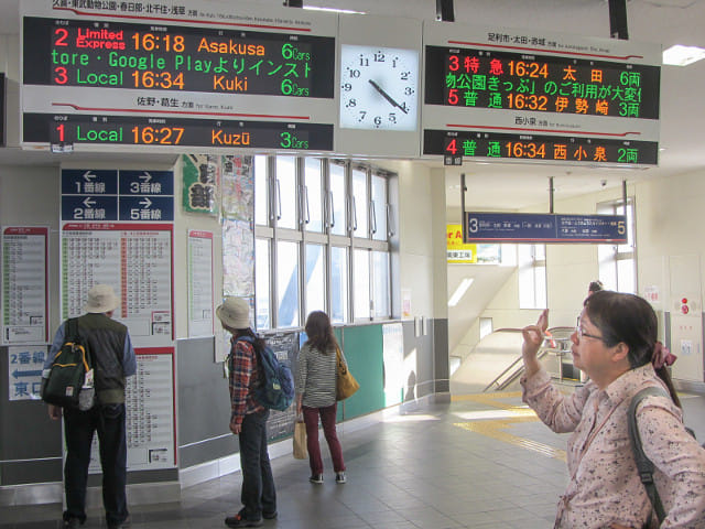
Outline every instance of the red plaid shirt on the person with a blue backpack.
<path fill-rule="evenodd" d="M 245 415 L 264 409 L 252 398 L 252 390 L 260 384 L 257 364 L 257 353 L 252 344 L 232 337 L 228 356 L 231 424 L 242 424 Z"/>

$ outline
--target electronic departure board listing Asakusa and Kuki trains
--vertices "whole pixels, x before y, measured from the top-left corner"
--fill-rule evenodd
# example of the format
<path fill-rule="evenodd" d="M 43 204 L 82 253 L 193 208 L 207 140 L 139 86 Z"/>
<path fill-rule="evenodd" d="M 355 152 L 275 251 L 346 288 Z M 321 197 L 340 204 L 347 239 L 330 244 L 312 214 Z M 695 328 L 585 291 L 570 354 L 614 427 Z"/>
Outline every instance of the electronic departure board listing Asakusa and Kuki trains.
<path fill-rule="evenodd" d="M 23 23 L 25 85 L 334 97 L 334 37 L 112 20 Z"/>

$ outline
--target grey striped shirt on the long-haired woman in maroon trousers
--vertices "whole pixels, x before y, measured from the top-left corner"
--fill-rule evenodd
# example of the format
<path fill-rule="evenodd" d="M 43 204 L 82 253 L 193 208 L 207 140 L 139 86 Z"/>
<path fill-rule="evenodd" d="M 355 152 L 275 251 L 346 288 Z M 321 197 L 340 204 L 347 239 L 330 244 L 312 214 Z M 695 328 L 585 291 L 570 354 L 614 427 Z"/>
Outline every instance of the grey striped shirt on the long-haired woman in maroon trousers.
<path fill-rule="evenodd" d="M 335 403 L 335 346 L 321 353 L 307 342 L 299 352 L 296 393 L 308 408 L 325 408 Z"/>

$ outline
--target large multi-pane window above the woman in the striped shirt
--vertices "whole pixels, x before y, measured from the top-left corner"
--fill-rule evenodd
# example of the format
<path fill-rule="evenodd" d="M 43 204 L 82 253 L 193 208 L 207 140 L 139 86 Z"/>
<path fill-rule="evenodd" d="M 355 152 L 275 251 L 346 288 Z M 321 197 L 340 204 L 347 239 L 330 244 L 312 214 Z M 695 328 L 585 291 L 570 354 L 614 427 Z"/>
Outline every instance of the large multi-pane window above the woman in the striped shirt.
<path fill-rule="evenodd" d="M 258 330 L 302 326 L 312 311 L 334 323 L 391 317 L 391 177 L 348 161 L 254 156 Z"/>

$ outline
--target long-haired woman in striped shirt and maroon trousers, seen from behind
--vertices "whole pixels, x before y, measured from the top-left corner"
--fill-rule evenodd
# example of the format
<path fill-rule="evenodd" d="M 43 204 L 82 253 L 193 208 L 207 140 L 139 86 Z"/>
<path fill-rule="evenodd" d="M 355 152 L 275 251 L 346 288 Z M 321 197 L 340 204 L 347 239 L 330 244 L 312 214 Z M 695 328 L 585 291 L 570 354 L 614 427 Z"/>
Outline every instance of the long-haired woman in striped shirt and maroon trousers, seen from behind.
<path fill-rule="evenodd" d="M 345 483 L 343 449 L 335 429 L 338 403 L 335 400 L 336 349 L 338 341 L 325 312 L 308 314 L 305 326 L 308 339 L 299 352 L 296 364 L 296 413 L 303 411 L 311 483 L 323 483 L 323 461 L 318 444 L 318 417 L 328 442 L 336 483 Z"/>

